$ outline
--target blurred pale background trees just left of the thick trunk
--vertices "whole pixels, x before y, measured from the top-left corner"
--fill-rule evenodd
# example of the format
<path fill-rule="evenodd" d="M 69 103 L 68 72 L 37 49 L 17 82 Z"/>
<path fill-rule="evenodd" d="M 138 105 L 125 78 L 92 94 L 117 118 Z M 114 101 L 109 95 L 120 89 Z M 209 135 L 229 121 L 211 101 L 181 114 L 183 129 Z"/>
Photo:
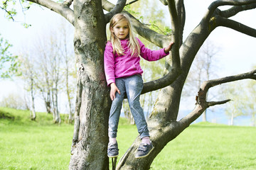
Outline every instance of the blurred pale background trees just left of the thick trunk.
<path fill-rule="evenodd" d="M 66 91 L 72 102 L 67 106 L 70 106 L 70 112 L 73 113 L 76 76 L 73 44 L 70 40 L 73 30 L 64 21 L 60 21 L 59 26 L 58 30 L 44 30 L 44 35 L 39 35 L 33 40 L 33 45 L 21 51 L 18 60 L 22 67 L 19 72 L 25 82 L 24 89 L 28 94 L 33 90 L 36 99 L 43 98 L 42 105 L 46 105 L 48 113 L 60 109 L 58 98 L 67 93 Z"/>

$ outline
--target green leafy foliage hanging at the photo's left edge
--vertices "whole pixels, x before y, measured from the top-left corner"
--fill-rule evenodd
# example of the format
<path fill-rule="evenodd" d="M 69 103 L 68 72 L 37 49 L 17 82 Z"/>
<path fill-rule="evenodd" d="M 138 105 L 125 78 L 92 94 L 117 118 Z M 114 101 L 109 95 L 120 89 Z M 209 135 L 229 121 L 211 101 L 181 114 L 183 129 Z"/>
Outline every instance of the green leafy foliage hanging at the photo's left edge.
<path fill-rule="evenodd" d="M 12 55 L 10 47 L 7 40 L 1 38 L 0 34 L 0 77 L 1 78 L 10 78 L 13 75 L 17 74 L 17 67 L 19 62 L 17 60 L 18 56 Z"/>

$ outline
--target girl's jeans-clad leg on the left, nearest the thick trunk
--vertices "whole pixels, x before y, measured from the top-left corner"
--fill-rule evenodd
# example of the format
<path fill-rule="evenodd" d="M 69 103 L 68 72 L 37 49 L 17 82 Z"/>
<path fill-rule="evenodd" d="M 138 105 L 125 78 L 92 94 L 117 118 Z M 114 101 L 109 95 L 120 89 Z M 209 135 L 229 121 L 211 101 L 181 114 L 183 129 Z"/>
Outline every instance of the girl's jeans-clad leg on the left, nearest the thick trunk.
<path fill-rule="evenodd" d="M 112 101 L 110 108 L 110 118 L 109 118 L 109 137 L 117 137 L 117 126 L 119 123 L 119 116 L 122 108 L 122 101 L 124 100 L 125 86 L 124 81 L 121 79 L 116 79 L 116 85 L 121 94 L 116 93 L 116 98 Z"/>

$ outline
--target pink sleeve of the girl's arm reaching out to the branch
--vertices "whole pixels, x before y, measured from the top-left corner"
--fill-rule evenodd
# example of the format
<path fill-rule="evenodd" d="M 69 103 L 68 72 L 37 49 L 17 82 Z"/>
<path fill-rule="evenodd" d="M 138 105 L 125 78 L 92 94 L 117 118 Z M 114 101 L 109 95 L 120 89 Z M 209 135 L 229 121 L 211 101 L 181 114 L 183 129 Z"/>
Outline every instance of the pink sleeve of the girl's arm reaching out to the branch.
<path fill-rule="evenodd" d="M 140 45 L 140 51 L 141 51 L 140 55 L 142 56 L 142 58 L 144 58 L 144 60 L 151 62 L 151 61 L 160 60 L 161 58 L 169 55 L 169 52 L 168 53 L 164 52 L 164 48 L 160 50 L 150 50 L 145 47 L 145 45 L 142 43 L 141 40 L 139 40 L 139 38 L 137 38 L 137 40 Z"/>

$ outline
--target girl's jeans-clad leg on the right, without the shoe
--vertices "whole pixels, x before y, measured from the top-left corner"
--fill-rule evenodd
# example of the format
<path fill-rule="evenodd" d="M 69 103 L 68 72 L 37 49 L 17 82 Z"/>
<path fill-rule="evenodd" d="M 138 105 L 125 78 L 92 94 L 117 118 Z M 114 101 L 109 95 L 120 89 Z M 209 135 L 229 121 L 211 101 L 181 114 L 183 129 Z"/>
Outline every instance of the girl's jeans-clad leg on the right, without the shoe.
<path fill-rule="evenodd" d="M 149 130 L 147 128 L 144 112 L 142 106 L 139 103 L 139 96 L 143 89 L 142 76 L 137 74 L 132 77 L 124 78 L 124 82 L 127 91 L 129 107 L 137 125 L 140 138 L 142 139 L 143 137 L 149 137 Z"/>

